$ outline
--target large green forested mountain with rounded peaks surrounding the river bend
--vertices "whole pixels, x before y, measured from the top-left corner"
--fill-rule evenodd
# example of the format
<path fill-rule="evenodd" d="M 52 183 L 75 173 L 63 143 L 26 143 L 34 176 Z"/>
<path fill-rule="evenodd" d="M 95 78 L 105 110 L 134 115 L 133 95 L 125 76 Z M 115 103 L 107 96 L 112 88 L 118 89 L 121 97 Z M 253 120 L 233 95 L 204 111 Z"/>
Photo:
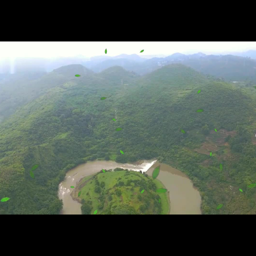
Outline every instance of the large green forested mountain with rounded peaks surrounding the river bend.
<path fill-rule="evenodd" d="M 252 86 L 240 89 L 180 64 L 143 77 L 70 65 L 28 84 L 47 90 L 0 123 L 0 198 L 11 198 L 0 214 L 58 214 L 59 182 L 88 160 L 155 157 L 190 177 L 203 214 L 256 214 L 255 190 L 247 188 L 256 182 Z"/>

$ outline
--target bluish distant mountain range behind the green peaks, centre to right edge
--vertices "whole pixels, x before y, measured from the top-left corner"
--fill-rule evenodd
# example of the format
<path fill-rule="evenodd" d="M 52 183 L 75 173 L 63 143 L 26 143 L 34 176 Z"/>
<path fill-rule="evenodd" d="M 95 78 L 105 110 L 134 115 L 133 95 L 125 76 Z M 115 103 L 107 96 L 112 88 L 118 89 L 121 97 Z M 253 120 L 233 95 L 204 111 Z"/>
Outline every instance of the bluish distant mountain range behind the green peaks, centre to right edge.
<path fill-rule="evenodd" d="M 163 66 L 173 63 L 182 63 L 202 74 L 209 74 L 227 81 L 251 80 L 256 82 L 256 60 L 248 57 L 233 55 L 205 55 L 203 53 L 185 55 L 175 53 L 165 58 L 151 58 L 143 62 L 128 59 L 109 59 L 102 62 L 87 62 L 95 72 L 100 72 L 112 66 L 121 66 L 128 71 L 140 75 L 150 73 Z"/>

